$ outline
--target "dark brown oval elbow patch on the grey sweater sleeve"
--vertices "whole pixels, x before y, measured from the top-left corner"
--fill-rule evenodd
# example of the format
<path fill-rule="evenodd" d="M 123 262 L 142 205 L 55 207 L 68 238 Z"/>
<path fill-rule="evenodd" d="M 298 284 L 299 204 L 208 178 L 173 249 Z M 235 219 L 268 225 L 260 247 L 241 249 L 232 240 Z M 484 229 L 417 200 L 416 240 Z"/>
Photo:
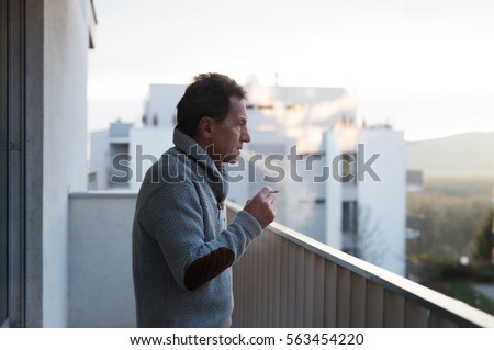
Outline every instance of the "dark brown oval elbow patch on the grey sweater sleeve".
<path fill-rule="evenodd" d="M 227 248 L 218 248 L 199 258 L 186 271 L 186 287 L 189 291 L 197 290 L 228 269 L 234 261 L 235 255 Z"/>

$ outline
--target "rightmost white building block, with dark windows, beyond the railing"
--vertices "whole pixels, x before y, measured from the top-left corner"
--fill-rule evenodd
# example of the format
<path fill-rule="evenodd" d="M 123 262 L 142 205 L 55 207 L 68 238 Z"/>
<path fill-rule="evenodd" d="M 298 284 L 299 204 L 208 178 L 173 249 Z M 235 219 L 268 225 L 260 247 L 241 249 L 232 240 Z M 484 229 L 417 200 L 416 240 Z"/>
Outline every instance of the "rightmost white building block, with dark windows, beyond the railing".
<path fill-rule="evenodd" d="M 405 275 L 406 171 L 403 133 L 352 125 L 326 133 L 326 242 Z"/>

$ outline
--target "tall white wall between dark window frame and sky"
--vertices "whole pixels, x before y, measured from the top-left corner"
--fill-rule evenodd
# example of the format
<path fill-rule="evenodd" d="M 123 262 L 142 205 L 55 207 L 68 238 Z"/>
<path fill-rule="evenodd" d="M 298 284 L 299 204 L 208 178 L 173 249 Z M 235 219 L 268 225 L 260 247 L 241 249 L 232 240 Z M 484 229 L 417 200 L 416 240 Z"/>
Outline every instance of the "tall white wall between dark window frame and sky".
<path fill-rule="evenodd" d="M 68 193 L 87 188 L 89 1 L 44 8 L 43 326 L 67 325 Z"/>

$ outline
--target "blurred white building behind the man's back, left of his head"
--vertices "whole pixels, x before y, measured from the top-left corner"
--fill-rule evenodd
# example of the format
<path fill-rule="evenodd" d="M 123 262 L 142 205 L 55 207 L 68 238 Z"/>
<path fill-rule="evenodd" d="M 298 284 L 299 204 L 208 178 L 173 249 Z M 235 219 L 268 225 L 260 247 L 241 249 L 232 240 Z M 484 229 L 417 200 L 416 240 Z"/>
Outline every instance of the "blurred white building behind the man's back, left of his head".
<path fill-rule="evenodd" d="M 90 190 L 138 191 L 146 170 L 173 145 L 176 106 L 186 87 L 150 84 L 135 124 L 116 122 L 91 133 Z"/>

